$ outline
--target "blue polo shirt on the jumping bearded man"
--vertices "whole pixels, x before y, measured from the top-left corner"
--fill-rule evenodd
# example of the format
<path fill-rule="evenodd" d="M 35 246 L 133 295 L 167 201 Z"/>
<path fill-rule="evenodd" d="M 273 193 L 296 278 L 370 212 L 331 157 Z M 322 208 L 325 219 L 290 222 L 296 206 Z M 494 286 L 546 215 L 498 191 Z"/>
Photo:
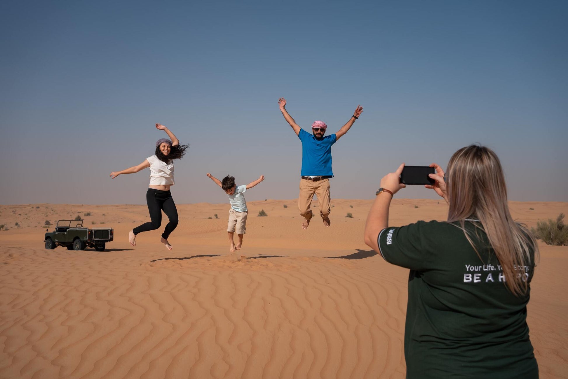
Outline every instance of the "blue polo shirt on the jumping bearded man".
<path fill-rule="evenodd" d="M 317 140 L 314 134 L 300 129 L 298 138 L 302 141 L 302 176 L 333 176 L 331 170 L 331 145 L 337 141 L 335 133 Z"/>

